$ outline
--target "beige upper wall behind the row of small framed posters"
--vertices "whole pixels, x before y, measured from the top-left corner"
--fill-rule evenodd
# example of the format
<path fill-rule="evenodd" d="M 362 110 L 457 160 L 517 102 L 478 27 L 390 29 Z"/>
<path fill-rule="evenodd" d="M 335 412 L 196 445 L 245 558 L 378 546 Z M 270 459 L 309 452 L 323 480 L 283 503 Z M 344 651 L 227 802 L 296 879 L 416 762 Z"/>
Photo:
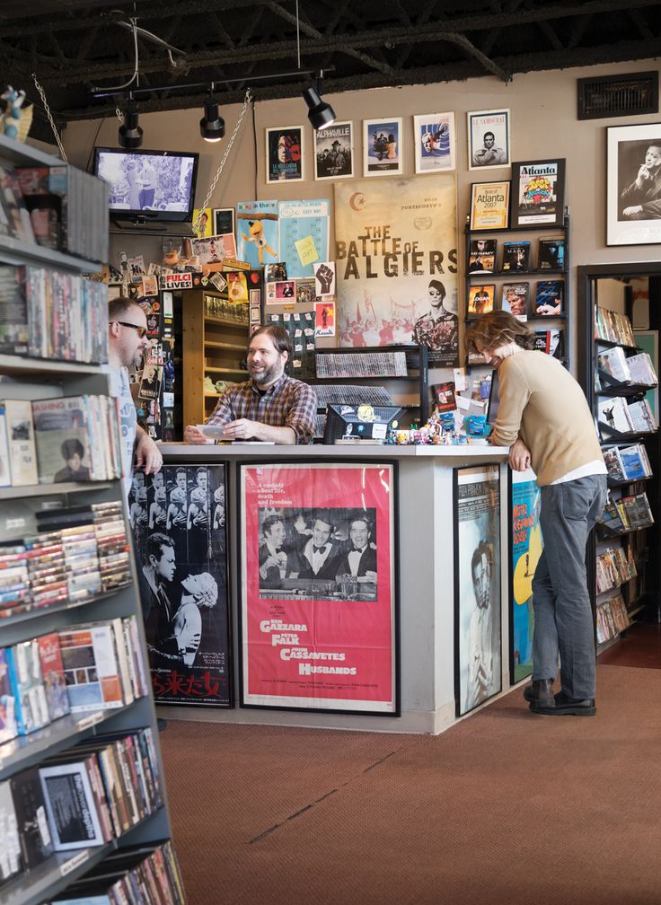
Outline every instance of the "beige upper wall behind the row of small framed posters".
<path fill-rule="evenodd" d="M 327 95 L 338 119 L 352 119 L 357 147 L 355 169 L 361 173 L 361 119 L 380 116 L 404 117 L 406 139 L 404 170 L 413 176 L 413 115 L 417 113 L 454 110 L 457 133 L 457 243 L 463 261 L 463 229 L 468 207 L 468 192 L 476 171 L 467 169 L 466 122 L 467 110 L 509 108 L 512 116 L 512 159 L 567 158 L 566 203 L 571 217 L 571 267 L 580 264 L 656 261 L 661 245 L 633 245 L 608 248 L 606 246 L 606 128 L 609 125 L 632 125 L 654 122 L 659 115 L 620 119 L 576 119 L 576 80 L 585 76 L 618 72 L 658 70 L 655 60 L 618 63 L 564 71 L 532 72 L 514 76 L 505 85 L 493 76 L 464 82 L 444 82 L 402 88 L 349 91 Z M 222 110 L 227 125 L 227 137 L 234 128 L 240 105 Z M 254 133 L 250 112 L 246 114 L 235 148 L 227 160 L 225 171 L 212 197 L 212 207 L 232 206 L 237 201 L 255 197 L 295 199 L 332 198 L 332 182 L 315 183 L 311 178 L 312 130 L 306 119 L 302 99 L 257 101 L 254 111 L 257 173 L 254 172 Z M 199 137 L 198 123 L 202 111 L 181 110 L 148 113 L 140 118 L 144 129 L 145 148 L 194 150 L 200 154 L 196 203 L 204 200 L 210 179 L 225 153 L 227 137 L 218 145 L 209 145 Z M 267 186 L 263 181 L 264 129 L 272 126 L 305 124 L 306 176 L 304 183 L 283 183 Z M 117 144 L 118 120 L 72 123 L 64 133 L 64 146 L 72 163 L 86 167 L 91 148 L 96 145 Z M 479 171 L 479 178 L 507 178 L 510 167 Z M 384 177 L 388 178 L 388 177 Z M 424 180 L 425 176 L 418 176 Z M 332 233 L 331 233 L 332 235 Z M 135 236 L 113 237 L 113 256 L 123 248 L 143 252 L 147 260 L 158 260 L 158 242 L 143 242 Z M 332 247 L 331 247 L 332 256 Z M 462 270 L 463 272 L 463 270 Z M 572 292 L 575 300 L 575 292 Z M 461 298 L 461 292 L 460 292 Z M 460 309 L 461 314 L 461 309 Z"/>

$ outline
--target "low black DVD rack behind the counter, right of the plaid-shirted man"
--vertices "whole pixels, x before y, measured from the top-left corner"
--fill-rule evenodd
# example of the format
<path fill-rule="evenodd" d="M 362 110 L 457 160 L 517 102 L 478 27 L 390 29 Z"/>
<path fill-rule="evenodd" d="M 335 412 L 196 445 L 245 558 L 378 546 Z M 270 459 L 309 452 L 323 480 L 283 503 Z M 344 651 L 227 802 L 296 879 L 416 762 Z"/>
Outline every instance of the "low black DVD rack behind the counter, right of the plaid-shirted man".
<path fill-rule="evenodd" d="M 318 348 L 316 376 L 305 382 L 315 387 L 318 423 L 315 440 L 321 440 L 326 406 L 398 405 L 399 423 L 426 424 L 430 413 L 428 348 L 393 345 L 372 348 Z"/>

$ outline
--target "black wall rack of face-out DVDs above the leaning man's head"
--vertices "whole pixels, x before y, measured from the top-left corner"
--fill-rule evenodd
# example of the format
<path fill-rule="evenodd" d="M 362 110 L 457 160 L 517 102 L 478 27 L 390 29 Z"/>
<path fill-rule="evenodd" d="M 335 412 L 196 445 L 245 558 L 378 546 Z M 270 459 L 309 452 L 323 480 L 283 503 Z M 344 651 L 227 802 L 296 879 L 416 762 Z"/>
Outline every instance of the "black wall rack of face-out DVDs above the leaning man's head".
<path fill-rule="evenodd" d="M 465 228 L 465 321 L 493 310 L 526 321 L 542 352 L 569 367 L 570 217 L 561 226 Z M 469 367 L 484 364 L 469 358 Z"/>

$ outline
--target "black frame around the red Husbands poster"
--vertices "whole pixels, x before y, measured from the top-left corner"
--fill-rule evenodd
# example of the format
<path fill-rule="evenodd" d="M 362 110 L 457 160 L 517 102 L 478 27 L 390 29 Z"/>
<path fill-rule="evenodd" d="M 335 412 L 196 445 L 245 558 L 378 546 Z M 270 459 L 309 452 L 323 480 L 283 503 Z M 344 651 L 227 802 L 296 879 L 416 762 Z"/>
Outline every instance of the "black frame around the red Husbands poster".
<path fill-rule="evenodd" d="M 256 703 L 246 700 L 246 679 L 247 660 L 245 652 L 247 650 L 246 630 L 244 627 L 244 616 L 247 606 L 244 606 L 245 587 L 245 563 L 244 563 L 244 541 L 245 536 L 245 499 L 244 499 L 244 480 L 245 470 L 258 467 L 263 468 L 288 468 L 295 473 L 296 469 L 309 468 L 310 466 L 319 466 L 324 472 L 332 470 L 333 466 L 350 466 L 356 469 L 383 469 L 387 468 L 391 474 L 390 494 L 389 494 L 389 514 L 392 533 L 389 538 L 389 548 L 391 550 L 391 559 L 389 566 L 391 567 L 391 591 L 390 591 L 390 663 L 391 663 L 391 695 L 392 708 L 390 710 L 369 710 L 366 708 L 345 708 L 345 707 L 321 707 L 321 706 L 305 706 L 296 704 L 281 703 Z M 237 462 L 236 464 L 236 557 L 237 557 L 237 616 L 236 616 L 236 635 L 238 638 L 238 705 L 244 710 L 279 710 L 286 712 L 307 712 L 307 713 L 335 713 L 350 714 L 356 716 L 376 716 L 376 717 L 400 717 L 401 716 L 401 643 L 400 643 L 400 608 L 399 608 L 399 507 L 398 507 L 398 461 L 384 457 L 378 460 L 357 460 L 344 458 L 309 458 L 305 457 L 292 460 L 269 459 L 260 462 Z M 355 507 L 343 507 L 345 509 L 361 509 L 360 500 L 356 500 Z M 380 536 L 380 535 L 379 535 Z M 259 599 L 259 598 L 258 598 Z M 349 701 L 348 701 L 349 703 Z"/>

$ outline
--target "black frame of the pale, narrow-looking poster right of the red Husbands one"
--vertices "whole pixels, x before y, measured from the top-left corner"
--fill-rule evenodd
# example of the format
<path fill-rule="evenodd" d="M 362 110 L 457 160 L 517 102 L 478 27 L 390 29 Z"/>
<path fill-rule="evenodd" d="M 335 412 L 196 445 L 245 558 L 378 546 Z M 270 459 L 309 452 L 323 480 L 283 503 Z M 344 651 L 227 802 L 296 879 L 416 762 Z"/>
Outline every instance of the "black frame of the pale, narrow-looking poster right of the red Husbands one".
<path fill-rule="evenodd" d="M 495 519 L 495 524 L 497 526 L 496 532 L 496 542 L 498 549 L 498 567 L 493 570 L 492 575 L 497 574 L 498 576 L 498 586 L 499 586 L 499 595 L 498 599 L 498 622 L 497 622 L 497 637 L 498 644 L 500 647 L 500 662 L 501 668 L 498 672 L 498 688 L 493 691 L 493 694 L 489 695 L 488 698 L 481 700 L 474 704 L 473 707 L 464 710 L 462 707 L 461 700 L 461 664 L 460 664 L 460 631 L 461 631 L 461 575 L 460 575 L 460 565 L 462 562 L 462 549 L 460 546 L 460 532 L 459 532 L 459 475 L 465 472 L 493 472 L 496 477 L 496 496 L 498 500 L 498 516 Z M 498 464 L 482 464 L 482 465 L 467 465 L 463 468 L 455 468 L 453 469 L 452 474 L 452 509 L 453 509 L 453 546 L 455 551 L 455 578 L 454 578 L 454 611 L 455 611 L 455 637 L 454 637 L 454 661 L 455 661 L 455 717 L 459 719 L 460 717 L 465 717 L 469 713 L 472 713 L 474 710 L 477 710 L 480 707 L 483 707 L 485 703 L 489 700 L 493 700 L 494 697 L 501 694 L 503 691 L 503 530 L 501 526 L 501 520 L 503 517 L 503 479 L 501 474 L 501 468 Z M 472 557 L 472 551 L 470 553 Z M 470 561 L 470 560 L 469 560 Z"/>

